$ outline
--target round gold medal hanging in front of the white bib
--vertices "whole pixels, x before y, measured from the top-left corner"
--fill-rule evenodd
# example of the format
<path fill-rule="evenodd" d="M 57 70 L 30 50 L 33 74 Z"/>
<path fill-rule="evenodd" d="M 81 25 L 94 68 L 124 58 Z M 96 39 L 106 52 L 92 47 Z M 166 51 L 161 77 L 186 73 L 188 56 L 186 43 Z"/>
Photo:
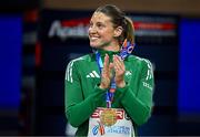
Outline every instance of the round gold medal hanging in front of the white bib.
<path fill-rule="evenodd" d="M 112 126 L 117 123 L 117 113 L 116 109 L 104 108 L 100 115 L 100 122 L 104 126 Z"/>

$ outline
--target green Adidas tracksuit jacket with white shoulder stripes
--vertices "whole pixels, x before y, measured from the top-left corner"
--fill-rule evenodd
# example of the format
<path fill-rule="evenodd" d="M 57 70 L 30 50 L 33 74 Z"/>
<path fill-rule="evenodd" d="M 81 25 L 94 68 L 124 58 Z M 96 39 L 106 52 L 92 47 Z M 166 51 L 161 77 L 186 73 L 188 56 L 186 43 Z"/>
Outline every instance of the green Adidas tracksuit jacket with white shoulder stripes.
<path fill-rule="evenodd" d="M 99 51 L 103 61 L 106 53 L 112 60 L 117 52 Z M 111 61 L 110 60 L 110 61 Z M 148 120 L 153 105 L 153 73 L 151 63 L 134 55 L 124 60 L 127 85 L 117 88 L 113 108 L 123 108 L 134 126 Z M 78 127 L 76 136 L 87 136 L 89 117 L 97 107 L 106 107 L 106 89 L 99 88 L 100 71 L 96 54 L 72 60 L 66 71 L 64 105 L 68 122 Z M 134 127 L 136 128 L 136 127 Z"/>

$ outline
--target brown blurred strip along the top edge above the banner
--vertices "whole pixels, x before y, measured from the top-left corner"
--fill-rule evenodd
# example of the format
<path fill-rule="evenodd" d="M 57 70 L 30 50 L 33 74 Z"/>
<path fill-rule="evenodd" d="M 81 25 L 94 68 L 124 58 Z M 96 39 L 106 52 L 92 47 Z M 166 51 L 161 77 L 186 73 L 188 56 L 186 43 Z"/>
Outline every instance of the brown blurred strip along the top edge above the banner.
<path fill-rule="evenodd" d="M 140 13 L 172 13 L 180 15 L 200 15 L 199 0 L 43 0 L 46 9 L 94 10 L 99 6 L 113 3 L 124 11 Z"/>

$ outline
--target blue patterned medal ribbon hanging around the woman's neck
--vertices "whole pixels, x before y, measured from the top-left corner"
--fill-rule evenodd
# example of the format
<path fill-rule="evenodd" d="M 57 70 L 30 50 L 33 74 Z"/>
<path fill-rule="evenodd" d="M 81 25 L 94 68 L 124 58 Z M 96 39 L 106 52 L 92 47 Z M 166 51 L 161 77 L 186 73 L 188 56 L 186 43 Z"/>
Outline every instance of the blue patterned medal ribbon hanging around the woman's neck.
<path fill-rule="evenodd" d="M 131 54 L 133 48 L 134 48 L 134 44 L 131 43 L 130 41 L 127 41 L 126 39 L 120 50 L 121 60 L 124 60 L 129 54 Z M 98 51 L 96 51 L 96 61 L 97 61 L 97 64 L 101 74 L 102 68 L 103 68 L 103 63 L 101 60 L 101 55 Z M 107 108 L 111 108 L 111 103 L 113 101 L 114 92 L 116 92 L 116 82 L 114 82 L 114 75 L 113 75 L 111 80 L 110 88 L 107 91 L 107 95 L 106 95 Z"/>

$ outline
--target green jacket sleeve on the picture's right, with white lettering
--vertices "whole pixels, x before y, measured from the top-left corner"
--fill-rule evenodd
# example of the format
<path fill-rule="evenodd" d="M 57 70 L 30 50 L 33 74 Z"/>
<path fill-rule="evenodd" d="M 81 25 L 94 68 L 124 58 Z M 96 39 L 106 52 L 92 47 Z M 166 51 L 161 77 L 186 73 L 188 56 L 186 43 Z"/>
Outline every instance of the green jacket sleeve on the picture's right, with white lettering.
<path fill-rule="evenodd" d="M 131 83 L 118 88 L 122 106 L 137 125 L 142 125 L 151 116 L 153 84 L 152 65 L 143 60 L 138 91 L 133 92 L 133 88 L 130 88 Z"/>

